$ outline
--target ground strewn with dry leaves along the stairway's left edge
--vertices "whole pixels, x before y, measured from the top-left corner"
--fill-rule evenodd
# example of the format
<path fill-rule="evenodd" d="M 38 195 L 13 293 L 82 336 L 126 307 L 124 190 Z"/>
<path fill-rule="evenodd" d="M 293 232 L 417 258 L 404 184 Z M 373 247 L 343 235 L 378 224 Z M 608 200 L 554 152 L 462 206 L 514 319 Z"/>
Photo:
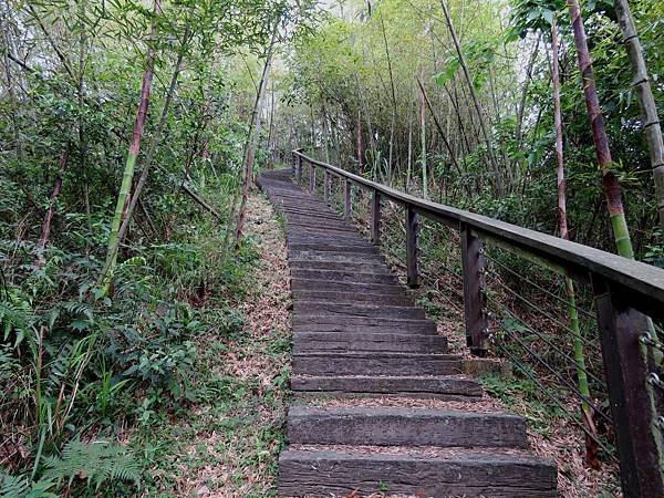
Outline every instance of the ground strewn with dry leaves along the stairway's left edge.
<path fill-rule="evenodd" d="M 144 496 L 267 497 L 276 495 L 277 458 L 290 372 L 290 292 L 282 225 L 252 194 L 247 238 L 256 246 L 249 292 L 238 303 L 245 326 L 197 343 L 208 395 L 176 419 L 139 429 L 148 465 Z"/>

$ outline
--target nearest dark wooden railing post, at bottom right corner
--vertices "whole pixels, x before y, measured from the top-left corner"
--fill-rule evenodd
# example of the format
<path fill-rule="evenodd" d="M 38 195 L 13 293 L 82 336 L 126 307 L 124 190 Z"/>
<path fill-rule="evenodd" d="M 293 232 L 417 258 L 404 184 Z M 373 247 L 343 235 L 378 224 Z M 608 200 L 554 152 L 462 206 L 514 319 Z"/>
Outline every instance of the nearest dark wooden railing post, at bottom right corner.
<path fill-rule="evenodd" d="M 592 287 L 623 495 L 664 496 L 662 434 L 655 424 L 653 396 L 658 387 L 647 382 L 654 362 L 640 341 L 649 331 L 647 320 L 627 307 L 601 277 L 592 276 Z"/>

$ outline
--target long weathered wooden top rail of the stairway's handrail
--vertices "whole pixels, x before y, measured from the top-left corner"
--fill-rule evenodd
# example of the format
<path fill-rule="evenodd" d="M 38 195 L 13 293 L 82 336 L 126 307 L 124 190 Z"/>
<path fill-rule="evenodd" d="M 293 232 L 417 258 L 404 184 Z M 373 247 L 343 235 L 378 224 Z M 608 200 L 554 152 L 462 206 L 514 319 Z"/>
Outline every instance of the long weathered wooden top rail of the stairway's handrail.
<path fill-rule="evenodd" d="M 601 276 L 610 282 L 618 283 L 637 292 L 641 298 L 646 298 L 649 301 L 657 301 L 662 307 L 662 312 L 664 312 L 664 269 L 613 255 L 601 249 L 595 249 L 590 246 L 542 234 L 537 230 L 489 218 L 488 216 L 415 197 L 392 187 L 387 187 L 386 185 L 363 178 L 338 166 L 309 157 L 301 151 L 302 149 L 294 149 L 293 154 L 314 166 L 320 166 L 340 177 L 375 190 L 390 200 L 412 206 L 416 211 L 424 216 L 458 222 L 459 226 L 464 224 L 489 238 L 504 241 L 508 246 L 515 248 L 530 250 L 554 264 L 562 266 L 568 270 L 571 269 L 572 273 L 575 273 L 574 276 L 577 277 L 580 276 L 580 270 L 587 270 L 590 274 Z M 637 302 L 637 297 L 633 298 L 636 298 L 631 299 L 631 301 L 636 301 L 635 308 L 641 308 Z"/>

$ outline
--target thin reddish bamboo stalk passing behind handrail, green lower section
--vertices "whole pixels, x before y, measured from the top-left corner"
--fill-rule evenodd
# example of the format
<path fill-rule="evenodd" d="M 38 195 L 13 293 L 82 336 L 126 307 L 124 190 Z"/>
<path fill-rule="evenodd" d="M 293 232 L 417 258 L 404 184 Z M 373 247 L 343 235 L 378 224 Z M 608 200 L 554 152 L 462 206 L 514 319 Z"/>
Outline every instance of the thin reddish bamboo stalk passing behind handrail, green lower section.
<path fill-rule="evenodd" d="M 539 39 L 538 39 L 539 40 Z M 553 85 L 553 123 L 556 128 L 556 162 L 558 164 L 558 224 L 560 237 L 569 240 L 568 219 L 567 219 L 567 194 L 564 180 L 564 157 L 562 152 L 562 106 L 560 103 L 560 68 L 559 68 L 559 42 L 558 27 L 556 21 L 551 23 L 551 82 Z M 574 282 L 569 277 L 564 278 L 564 290 L 568 300 L 568 314 L 570 317 L 570 329 L 572 331 L 572 344 L 574 349 L 574 363 L 577 367 L 577 384 L 579 392 L 590 400 L 590 386 L 588 375 L 585 374 L 585 356 L 583 354 L 583 342 L 581 341 L 581 330 L 579 325 L 579 311 L 577 309 L 577 295 L 574 292 Z M 581 403 L 583 424 L 590 434 L 596 435 L 593 412 L 587 402 Z M 598 444 L 588 434 L 585 435 L 585 463 L 599 469 Z"/>

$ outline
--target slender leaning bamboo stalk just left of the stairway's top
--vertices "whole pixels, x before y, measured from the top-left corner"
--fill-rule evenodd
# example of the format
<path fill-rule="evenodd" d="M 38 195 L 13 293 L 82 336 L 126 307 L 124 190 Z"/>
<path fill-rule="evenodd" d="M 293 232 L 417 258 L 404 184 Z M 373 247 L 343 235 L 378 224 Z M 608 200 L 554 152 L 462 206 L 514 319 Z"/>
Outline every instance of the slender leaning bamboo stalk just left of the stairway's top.
<path fill-rule="evenodd" d="M 256 93 L 256 101 L 253 102 L 253 111 L 251 112 L 251 120 L 249 123 L 249 133 L 247 135 L 247 142 L 245 143 L 245 164 L 243 164 L 243 181 L 242 181 L 242 198 L 240 200 L 240 207 L 238 210 L 238 221 L 235 231 L 235 248 L 236 250 L 240 246 L 240 239 L 242 238 L 242 229 L 245 228 L 245 218 L 247 216 L 247 199 L 249 198 L 249 188 L 253 181 L 253 159 L 256 158 L 256 147 L 258 145 L 258 135 L 260 134 L 260 120 L 259 111 L 260 105 L 266 93 L 266 86 L 268 75 L 270 73 L 270 65 L 272 62 L 272 53 L 274 51 L 274 43 L 277 42 L 277 33 L 279 32 L 279 20 L 274 23 L 272 30 L 272 37 L 270 44 L 266 53 L 266 62 L 258 84 L 258 91 Z M 313 114 L 312 114 L 312 131 L 313 131 Z M 313 133 L 313 132 L 312 132 Z"/>

